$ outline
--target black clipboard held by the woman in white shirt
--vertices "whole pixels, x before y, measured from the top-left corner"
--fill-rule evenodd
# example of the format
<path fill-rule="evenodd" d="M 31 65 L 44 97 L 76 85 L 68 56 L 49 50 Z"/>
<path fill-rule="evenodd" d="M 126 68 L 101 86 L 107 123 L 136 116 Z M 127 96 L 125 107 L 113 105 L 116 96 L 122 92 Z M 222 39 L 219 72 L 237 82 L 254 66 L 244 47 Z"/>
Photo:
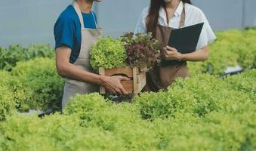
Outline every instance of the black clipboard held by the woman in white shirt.
<path fill-rule="evenodd" d="M 198 23 L 192 26 L 186 26 L 171 31 L 168 46 L 176 48 L 181 54 L 188 54 L 196 51 L 197 43 L 202 32 L 204 23 Z M 170 66 L 183 63 L 178 60 L 163 60 L 162 66 Z"/>

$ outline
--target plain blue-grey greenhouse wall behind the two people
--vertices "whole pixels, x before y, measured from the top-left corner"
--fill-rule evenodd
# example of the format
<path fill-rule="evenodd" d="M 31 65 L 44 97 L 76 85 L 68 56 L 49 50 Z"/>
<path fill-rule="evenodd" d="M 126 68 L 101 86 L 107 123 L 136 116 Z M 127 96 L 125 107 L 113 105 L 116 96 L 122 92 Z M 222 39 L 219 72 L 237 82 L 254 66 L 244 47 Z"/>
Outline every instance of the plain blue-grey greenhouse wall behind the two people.
<path fill-rule="evenodd" d="M 0 0 L 0 45 L 24 46 L 43 43 L 54 46 L 53 27 L 58 15 L 72 0 Z M 214 30 L 256 26 L 255 0 L 193 0 L 205 12 Z M 103 0 L 94 6 L 105 35 L 133 31 L 150 0 Z"/>

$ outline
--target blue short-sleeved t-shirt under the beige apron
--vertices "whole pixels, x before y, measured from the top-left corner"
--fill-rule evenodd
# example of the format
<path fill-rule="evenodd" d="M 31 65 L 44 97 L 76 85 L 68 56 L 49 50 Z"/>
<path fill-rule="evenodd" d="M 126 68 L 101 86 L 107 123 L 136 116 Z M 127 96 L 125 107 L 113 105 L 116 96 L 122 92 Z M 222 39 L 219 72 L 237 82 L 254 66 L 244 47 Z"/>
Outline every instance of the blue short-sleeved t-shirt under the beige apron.
<path fill-rule="evenodd" d="M 91 11 L 90 14 L 82 13 L 85 28 L 96 29 L 93 14 L 96 20 L 96 14 L 94 12 Z M 79 16 L 76 14 L 72 5 L 69 5 L 57 19 L 54 26 L 54 38 L 55 48 L 60 48 L 63 45 L 71 48 L 72 52 L 69 62 L 75 63 L 80 53 L 82 34 Z"/>

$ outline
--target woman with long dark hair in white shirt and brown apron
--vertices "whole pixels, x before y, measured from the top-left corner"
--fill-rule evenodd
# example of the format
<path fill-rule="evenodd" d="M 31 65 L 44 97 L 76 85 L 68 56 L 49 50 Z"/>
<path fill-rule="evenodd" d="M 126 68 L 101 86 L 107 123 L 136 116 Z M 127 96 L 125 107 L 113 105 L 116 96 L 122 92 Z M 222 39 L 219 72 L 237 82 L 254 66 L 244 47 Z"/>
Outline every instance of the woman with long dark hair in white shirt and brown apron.
<path fill-rule="evenodd" d="M 177 49 L 168 47 L 171 30 L 183 26 L 204 23 L 196 51 L 180 54 Z M 165 89 L 177 77 L 187 77 L 187 61 L 203 61 L 209 56 L 209 43 L 216 39 L 205 14 L 190 0 L 151 0 L 150 7 L 144 8 L 134 33 L 152 32 L 153 37 L 162 43 L 162 62 L 178 60 L 168 66 L 155 66 L 147 74 L 147 85 L 144 91 Z"/>

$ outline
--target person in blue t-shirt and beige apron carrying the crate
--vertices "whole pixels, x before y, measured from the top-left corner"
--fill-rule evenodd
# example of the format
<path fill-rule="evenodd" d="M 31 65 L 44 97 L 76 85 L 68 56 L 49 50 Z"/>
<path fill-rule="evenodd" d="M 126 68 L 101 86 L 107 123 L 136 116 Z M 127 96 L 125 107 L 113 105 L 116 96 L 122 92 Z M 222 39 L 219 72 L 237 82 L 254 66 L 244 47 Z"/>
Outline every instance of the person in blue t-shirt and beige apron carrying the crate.
<path fill-rule="evenodd" d="M 54 26 L 57 72 L 66 79 L 62 106 L 76 94 L 99 91 L 103 85 L 114 94 L 128 94 L 122 87 L 123 76 L 103 76 L 92 72 L 89 63 L 91 46 L 102 35 L 97 28 L 93 2 L 101 0 L 75 0 L 60 14 Z"/>

